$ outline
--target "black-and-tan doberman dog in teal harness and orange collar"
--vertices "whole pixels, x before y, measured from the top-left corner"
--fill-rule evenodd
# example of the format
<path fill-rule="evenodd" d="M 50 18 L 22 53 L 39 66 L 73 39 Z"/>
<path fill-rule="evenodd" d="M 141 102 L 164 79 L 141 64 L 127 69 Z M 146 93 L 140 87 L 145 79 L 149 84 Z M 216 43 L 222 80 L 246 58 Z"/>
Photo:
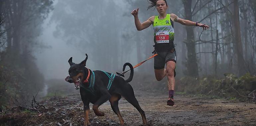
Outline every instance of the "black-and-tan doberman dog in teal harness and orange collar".
<path fill-rule="evenodd" d="M 128 83 L 132 81 L 133 78 L 133 66 L 130 63 L 125 63 L 123 66 L 123 71 L 126 66 L 131 69 L 130 77 L 124 80 L 122 77 L 115 76 L 111 77 L 110 73 L 104 71 L 91 71 L 86 68 L 87 54 L 85 60 L 79 64 L 72 62 L 72 57 L 69 58 L 68 63 L 70 68 L 68 70 L 69 76 L 66 77 L 66 81 L 69 83 L 74 83 L 76 89 L 80 89 L 81 99 L 83 101 L 84 109 L 84 126 L 90 125 L 89 122 L 89 103 L 93 104 L 92 109 L 97 116 L 104 116 L 104 113 L 99 111 L 98 107 L 109 100 L 113 111 L 117 114 L 121 126 L 124 125 L 124 119 L 120 115 L 118 108 L 118 101 L 123 96 L 128 102 L 130 102 L 141 114 L 143 124 L 147 124 L 145 112 L 141 109 L 137 99 L 134 96 L 134 91 L 132 86 Z M 95 82 L 95 85 L 91 86 L 91 83 Z M 92 82 L 94 81 L 94 82 Z M 112 85 L 109 86 L 110 81 Z M 80 88 L 81 87 L 81 88 Z M 91 87 L 91 88 L 90 88 Z"/>

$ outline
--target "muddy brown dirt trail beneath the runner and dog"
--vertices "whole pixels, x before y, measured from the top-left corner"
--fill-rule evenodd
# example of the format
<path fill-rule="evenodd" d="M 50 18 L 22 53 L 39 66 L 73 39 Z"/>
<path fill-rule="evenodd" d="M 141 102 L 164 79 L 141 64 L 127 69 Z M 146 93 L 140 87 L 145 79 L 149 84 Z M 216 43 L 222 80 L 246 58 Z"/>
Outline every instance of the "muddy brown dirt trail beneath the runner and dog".
<path fill-rule="evenodd" d="M 256 125 L 256 103 L 238 100 L 216 99 L 200 96 L 175 95 L 175 105 L 168 106 L 167 94 L 135 92 L 141 108 L 145 111 L 150 126 L 205 126 L 205 125 Z M 72 102 L 80 103 L 79 94 L 72 95 Z M 62 106 L 67 107 L 67 106 Z M 69 106 L 73 107 L 73 106 Z M 105 116 L 95 116 L 90 104 L 92 126 L 119 124 L 110 103 L 100 106 Z M 119 101 L 119 109 L 126 126 L 142 124 L 139 112 L 125 99 Z"/>

